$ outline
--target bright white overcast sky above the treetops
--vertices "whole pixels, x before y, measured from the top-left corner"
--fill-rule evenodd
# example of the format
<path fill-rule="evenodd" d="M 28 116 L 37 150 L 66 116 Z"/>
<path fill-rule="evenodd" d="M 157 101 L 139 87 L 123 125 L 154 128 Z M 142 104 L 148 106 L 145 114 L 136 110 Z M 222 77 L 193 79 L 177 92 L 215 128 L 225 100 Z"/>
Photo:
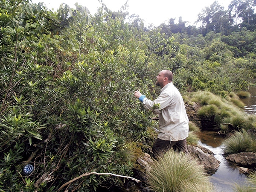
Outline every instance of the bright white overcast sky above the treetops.
<path fill-rule="evenodd" d="M 127 0 L 102 0 L 111 11 L 118 11 Z M 215 0 L 128 0 L 129 15 L 139 15 L 145 25 L 159 26 L 168 23 L 170 18 L 179 17 L 187 21 L 187 25 L 195 25 L 198 14 L 205 7 L 209 7 Z M 232 0 L 218 0 L 218 3 L 227 10 Z M 100 3 L 98 0 L 32 0 L 32 3 L 44 2 L 48 9 L 57 10 L 61 3 L 76 8 L 75 3 L 86 6 L 90 13 L 97 12 Z"/>

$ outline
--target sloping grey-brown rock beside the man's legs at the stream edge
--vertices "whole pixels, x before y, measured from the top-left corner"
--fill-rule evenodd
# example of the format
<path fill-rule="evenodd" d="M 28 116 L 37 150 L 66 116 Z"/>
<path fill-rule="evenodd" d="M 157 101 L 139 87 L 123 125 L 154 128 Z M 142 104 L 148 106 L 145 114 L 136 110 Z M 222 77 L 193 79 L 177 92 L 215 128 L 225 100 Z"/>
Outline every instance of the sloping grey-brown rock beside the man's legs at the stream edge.
<path fill-rule="evenodd" d="M 205 153 L 201 149 L 203 148 L 202 146 L 199 148 L 198 146 L 188 145 L 187 148 L 192 157 L 198 160 L 198 164 L 204 166 L 204 169 L 206 169 L 207 173 L 212 175 L 217 171 L 221 162 L 214 157 L 213 153 Z M 208 151 L 206 149 L 204 150 Z"/>

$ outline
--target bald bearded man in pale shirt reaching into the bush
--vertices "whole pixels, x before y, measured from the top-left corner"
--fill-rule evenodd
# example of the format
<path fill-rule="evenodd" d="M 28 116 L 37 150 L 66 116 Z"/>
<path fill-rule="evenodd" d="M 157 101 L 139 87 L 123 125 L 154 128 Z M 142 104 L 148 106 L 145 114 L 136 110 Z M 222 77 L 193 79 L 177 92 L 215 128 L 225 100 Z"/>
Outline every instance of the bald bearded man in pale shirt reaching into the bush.
<path fill-rule="evenodd" d="M 170 148 L 188 153 L 186 137 L 189 134 L 189 119 L 183 98 L 172 84 L 172 78 L 172 72 L 169 70 L 162 70 L 157 75 L 156 85 L 162 87 L 162 89 L 160 95 L 154 101 L 147 99 L 138 90 L 134 93 L 134 96 L 143 102 L 146 109 L 159 115 L 159 134 L 152 147 L 154 158 Z M 159 104 L 159 108 L 155 109 L 154 107 L 153 109 L 155 104 Z"/>

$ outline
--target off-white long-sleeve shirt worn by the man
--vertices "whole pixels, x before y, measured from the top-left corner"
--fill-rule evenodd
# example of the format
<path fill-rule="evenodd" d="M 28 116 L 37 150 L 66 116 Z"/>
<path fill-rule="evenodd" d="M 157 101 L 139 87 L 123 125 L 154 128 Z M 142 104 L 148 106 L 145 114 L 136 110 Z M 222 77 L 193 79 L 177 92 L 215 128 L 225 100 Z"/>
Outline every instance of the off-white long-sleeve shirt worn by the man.
<path fill-rule="evenodd" d="M 153 110 L 153 105 L 158 103 L 160 108 Z M 159 139 L 179 141 L 188 137 L 189 119 L 183 98 L 172 82 L 161 89 L 156 100 L 151 101 L 145 98 L 143 106 L 154 111 L 154 114 L 159 114 Z"/>

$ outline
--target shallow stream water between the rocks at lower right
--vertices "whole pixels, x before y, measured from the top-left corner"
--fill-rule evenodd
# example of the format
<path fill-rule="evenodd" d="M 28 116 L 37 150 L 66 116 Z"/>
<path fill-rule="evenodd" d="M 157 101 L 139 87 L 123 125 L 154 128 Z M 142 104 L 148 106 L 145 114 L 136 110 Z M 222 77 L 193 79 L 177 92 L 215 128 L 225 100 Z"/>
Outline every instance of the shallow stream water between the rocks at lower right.
<path fill-rule="evenodd" d="M 214 157 L 221 162 L 217 172 L 210 176 L 210 181 L 215 186 L 216 191 L 233 192 L 236 183 L 244 184 L 246 176 L 222 156 L 221 143 L 224 137 L 214 131 L 201 131 L 198 136 L 201 140 L 198 144 L 211 150 L 215 154 Z"/>

